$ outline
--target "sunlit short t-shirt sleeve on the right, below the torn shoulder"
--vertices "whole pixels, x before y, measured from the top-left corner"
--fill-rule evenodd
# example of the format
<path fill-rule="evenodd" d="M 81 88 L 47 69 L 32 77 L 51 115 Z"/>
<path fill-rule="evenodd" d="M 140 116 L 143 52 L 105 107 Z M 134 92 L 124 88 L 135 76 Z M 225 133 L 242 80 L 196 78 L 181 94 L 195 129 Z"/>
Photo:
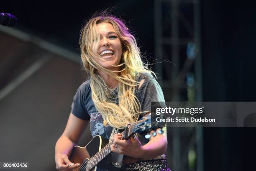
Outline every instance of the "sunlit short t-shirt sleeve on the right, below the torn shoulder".
<path fill-rule="evenodd" d="M 141 111 L 146 114 L 146 111 L 151 111 L 151 102 L 164 102 L 164 94 L 163 91 L 158 84 L 158 82 L 154 80 L 148 80 L 144 82 L 139 89 L 138 99 L 141 103 Z M 157 103 L 159 106 L 156 107 L 165 107 L 165 103 Z"/>

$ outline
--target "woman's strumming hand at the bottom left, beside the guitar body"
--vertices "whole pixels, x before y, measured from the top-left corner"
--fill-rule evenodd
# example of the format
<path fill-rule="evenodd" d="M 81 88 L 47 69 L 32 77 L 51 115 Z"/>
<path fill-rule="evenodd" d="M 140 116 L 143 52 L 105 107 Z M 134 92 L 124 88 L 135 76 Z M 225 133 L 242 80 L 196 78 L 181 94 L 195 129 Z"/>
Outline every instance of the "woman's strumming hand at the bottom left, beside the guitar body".
<path fill-rule="evenodd" d="M 56 156 L 55 162 L 56 162 L 56 168 L 59 171 L 71 171 L 72 169 L 80 166 L 80 163 L 74 164 L 71 161 L 69 161 L 68 156 L 65 154 L 60 154 Z"/>

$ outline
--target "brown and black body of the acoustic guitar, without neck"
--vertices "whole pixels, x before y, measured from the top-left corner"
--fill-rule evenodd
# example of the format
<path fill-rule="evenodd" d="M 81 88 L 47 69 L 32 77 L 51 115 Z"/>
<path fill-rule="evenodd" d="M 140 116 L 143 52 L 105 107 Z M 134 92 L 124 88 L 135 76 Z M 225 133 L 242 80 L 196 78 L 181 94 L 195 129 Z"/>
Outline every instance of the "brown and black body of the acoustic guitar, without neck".
<path fill-rule="evenodd" d="M 80 163 L 81 166 L 79 169 L 73 169 L 73 171 L 87 171 L 87 163 L 89 159 L 98 153 L 106 144 L 107 142 L 103 140 L 100 135 L 96 135 L 86 146 L 74 146 L 69 159 L 72 163 Z M 111 155 L 102 159 L 102 161 L 100 161 L 97 166 L 90 169 L 90 171 L 100 171 L 100 168 L 109 169 L 110 171 L 118 171 L 119 169 L 111 164 L 111 157 L 109 156 Z"/>

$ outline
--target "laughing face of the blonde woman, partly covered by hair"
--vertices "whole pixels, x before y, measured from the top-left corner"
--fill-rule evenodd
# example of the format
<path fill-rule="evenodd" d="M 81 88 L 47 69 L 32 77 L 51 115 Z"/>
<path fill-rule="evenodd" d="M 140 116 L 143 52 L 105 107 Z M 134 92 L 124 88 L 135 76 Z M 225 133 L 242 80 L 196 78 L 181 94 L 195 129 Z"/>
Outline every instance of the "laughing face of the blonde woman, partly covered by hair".
<path fill-rule="evenodd" d="M 100 59 L 95 60 L 106 69 L 118 70 L 120 67 L 112 66 L 120 64 L 122 56 L 122 45 L 118 34 L 110 23 L 97 24 L 97 31 L 100 33 L 97 53 L 102 59 L 105 59 L 105 61 Z"/>

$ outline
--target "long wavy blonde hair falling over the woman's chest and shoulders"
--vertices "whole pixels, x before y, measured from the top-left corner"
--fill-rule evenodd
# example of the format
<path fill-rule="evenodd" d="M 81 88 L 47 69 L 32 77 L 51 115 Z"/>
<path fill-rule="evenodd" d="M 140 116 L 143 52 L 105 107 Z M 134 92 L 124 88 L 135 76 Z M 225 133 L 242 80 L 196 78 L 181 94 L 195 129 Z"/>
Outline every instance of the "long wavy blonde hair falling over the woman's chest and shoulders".
<path fill-rule="evenodd" d="M 122 56 L 120 64 L 116 65 L 120 70 L 112 71 L 97 63 L 100 59 L 97 53 L 97 45 L 100 42 L 100 34 L 97 32 L 97 24 L 112 24 L 122 44 Z M 141 60 L 140 50 L 137 47 L 135 37 L 130 33 L 125 23 L 113 16 L 100 14 L 93 16 L 82 28 L 80 34 L 81 58 L 84 69 L 90 75 L 90 87 L 92 100 L 96 109 L 102 114 L 104 125 L 110 125 L 113 133 L 117 129 L 123 129 L 128 123 L 134 123 L 141 114 L 141 105 L 135 95 L 138 89 L 138 76 L 140 73 L 154 74 L 148 70 L 148 65 Z M 105 84 L 98 74 L 98 70 L 104 71 L 118 81 L 119 105 L 110 100 L 111 89 Z M 155 76 L 155 74 L 154 74 Z M 145 112 L 145 111 L 143 111 Z M 111 139 L 110 138 L 110 139 Z"/>

